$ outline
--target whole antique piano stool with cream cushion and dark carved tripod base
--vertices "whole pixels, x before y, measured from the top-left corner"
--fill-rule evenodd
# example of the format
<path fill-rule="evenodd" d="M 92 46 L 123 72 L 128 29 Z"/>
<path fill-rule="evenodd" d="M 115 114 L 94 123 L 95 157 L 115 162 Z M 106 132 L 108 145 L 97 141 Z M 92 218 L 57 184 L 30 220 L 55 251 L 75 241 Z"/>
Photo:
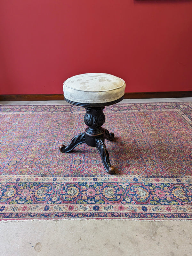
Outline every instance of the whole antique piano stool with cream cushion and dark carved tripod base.
<path fill-rule="evenodd" d="M 61 145 L 60 151 L 68 153 L 85 142 L 98 149 L 105 170 L 114 174 L 115 168 L 110 164 L 105 146 L 105 139 L 113 140 L 114 133 L 101 127 L 105 122 L 103 109 L 123 100 L 124 90 L 124 80 L 114 75 L 88 73 L 68 78 L 63 84 L 65 100 L 86 109 L 84 122 L 88 127 L 85 132 L 73 137 L 68 146 Z"/>

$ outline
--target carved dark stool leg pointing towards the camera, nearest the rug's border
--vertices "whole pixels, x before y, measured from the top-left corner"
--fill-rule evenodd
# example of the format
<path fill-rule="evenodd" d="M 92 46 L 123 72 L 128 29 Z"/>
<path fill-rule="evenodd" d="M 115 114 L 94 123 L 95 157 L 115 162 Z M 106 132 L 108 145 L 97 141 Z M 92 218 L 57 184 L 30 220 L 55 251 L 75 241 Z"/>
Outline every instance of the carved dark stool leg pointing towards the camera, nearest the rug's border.
<path fill-rule="evenodd" d="M 110 164 L 109 153 L 107 151 L 107 148 L 105 146 L 105 143 L 104 143 L 103 139 L 102 138 L 95 139 L 95 144 L 96 144 L 97 150 L 99 151 L 101 160 L 102 160 L 103 165 L 105 167 L 105 170 L 109 174 L 114 174 L 115 173 L 115 167 Z"/>

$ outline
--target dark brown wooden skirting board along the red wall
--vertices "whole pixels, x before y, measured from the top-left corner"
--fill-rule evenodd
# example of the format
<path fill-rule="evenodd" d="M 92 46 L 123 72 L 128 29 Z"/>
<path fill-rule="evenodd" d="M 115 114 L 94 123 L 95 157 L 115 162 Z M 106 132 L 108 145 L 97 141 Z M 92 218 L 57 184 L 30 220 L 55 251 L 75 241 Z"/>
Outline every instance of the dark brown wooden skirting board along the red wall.
<path fill-rule="evenodd" d="M 192 91 L 125 93 L 124 99 L 153 99 L 192 97 Z M 63 101 L 63 94 L 0 95 L 0 101 Z"/>

